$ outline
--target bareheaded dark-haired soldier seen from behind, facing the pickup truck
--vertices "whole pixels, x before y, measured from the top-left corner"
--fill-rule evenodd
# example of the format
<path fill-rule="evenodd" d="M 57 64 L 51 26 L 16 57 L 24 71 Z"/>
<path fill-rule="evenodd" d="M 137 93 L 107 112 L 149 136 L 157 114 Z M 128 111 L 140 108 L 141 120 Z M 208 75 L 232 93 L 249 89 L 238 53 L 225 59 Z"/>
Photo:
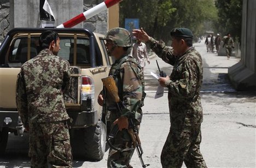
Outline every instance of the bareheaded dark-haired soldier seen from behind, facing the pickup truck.
<path fill-rule="evenodd" d="M 69 116 L 63 100 L 69 63 L 57 56 L 56 32 L 43 32 L 39 44 L 42 51 L 22 65 L 16 84 L 17 109 L 30 133 L 31 167 L 72 167 Z"/>

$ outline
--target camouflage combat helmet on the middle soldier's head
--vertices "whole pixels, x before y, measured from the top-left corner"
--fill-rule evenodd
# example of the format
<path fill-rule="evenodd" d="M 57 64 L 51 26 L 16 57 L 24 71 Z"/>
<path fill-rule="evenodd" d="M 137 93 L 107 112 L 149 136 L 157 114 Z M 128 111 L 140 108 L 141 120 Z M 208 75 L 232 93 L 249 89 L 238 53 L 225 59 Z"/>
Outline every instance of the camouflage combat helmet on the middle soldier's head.
<path fill-rule="evenodd" d="M 130 47 L 132 45 L 130 32 L 121 27 L 110 29 L 104 39 L 111 40 L 114 45 L 121 47 Z"/>

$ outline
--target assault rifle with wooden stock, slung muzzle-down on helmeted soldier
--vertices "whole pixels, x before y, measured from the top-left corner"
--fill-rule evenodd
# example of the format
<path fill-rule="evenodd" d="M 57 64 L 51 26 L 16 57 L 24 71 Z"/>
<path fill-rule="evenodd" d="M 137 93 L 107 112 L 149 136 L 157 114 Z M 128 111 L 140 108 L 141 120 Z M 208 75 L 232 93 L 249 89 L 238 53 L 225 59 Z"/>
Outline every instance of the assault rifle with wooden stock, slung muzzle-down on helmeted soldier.
<path fill-rule="evenodd" d="M 108 76 L 101 80 L 102 80 L 104 86 L 106 87 L 107 91 L 109 92 L 111 97 L 114 99 L 115 103 L 117 104 L 117 109 L 121 112 L 121 109 L 123 108 L 124 105 L 123 105 L 123 103 L 121 103 L 120 98 L 118 96 L 118 88 L 115 85 L 115 80 L 114 80 L 113 76 Z M 114 145 L 112 145 L 112 141 L 113 141 L 115 135 L 117 135 L 118 131 L 119 131 L 118 125 L 116 124 L 115 127 L 110 131 L 110 133 L 107 137 L 109 146 L 117 151 L 120 151 L 120 152 L 131 150 L 131 148 L 119 149 L 119 148 L 114 147 Z M 132 122 L 131 118 L 129 118 L 129 128 L 127 131 L 129 133 L 129 135 L 131 136 L 133 148 L 136 148 L 136 151 L 138 153 L 138 157 L 139 157 L 139 160 L 141 161 L 142 167 L 144 168 L 144 167 L 149 166 L 149 164 L 144 164 L 144 161 L 142 159 L 143 150 L 141 147 L 141 140 L 139 140 L 139 136 L 138 136 L 138 128 L 137 128 L 136 124 L 134 124 Z"/>

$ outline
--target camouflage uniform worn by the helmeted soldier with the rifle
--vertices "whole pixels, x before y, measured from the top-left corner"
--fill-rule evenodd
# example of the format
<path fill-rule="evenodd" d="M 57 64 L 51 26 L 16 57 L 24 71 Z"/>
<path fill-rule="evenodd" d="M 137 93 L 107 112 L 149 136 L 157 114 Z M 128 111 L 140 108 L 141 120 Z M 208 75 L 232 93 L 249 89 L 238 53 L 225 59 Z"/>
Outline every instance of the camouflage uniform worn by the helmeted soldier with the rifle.
<path fill-rule="evenodd" d="M 143 84 L 138 75 L 142 75 L 136 59 L 131 56 L 124 55 L 112 65 L 109 75 L 115 77 L 118 87 L 118 95 L 120 101 L 124 103 L 124 109 L 121 112 L 117 110 L 116 104 L 106 92 L 106 103 L 110 111 L 110 128 L 113 128 L 113 122 L 120 116 L 132 118 L 137 125 L 142 119 L 141 99 L 143 92 Z M 114 146 L 125 149 L 132 148 L 132 142 L 127 130 L 119 131 L 115 137 Z M 133 150 L 119 152 L 115 149 L 109 149 L 108 167 L 129 167 Z"/>

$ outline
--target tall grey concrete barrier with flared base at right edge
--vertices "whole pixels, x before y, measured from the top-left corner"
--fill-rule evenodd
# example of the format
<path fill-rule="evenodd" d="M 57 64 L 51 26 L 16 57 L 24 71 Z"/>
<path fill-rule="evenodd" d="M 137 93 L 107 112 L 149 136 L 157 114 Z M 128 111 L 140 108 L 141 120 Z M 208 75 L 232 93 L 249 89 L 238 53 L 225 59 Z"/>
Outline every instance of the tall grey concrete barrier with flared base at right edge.
<path fill-rule="evenodd" d="M 238 91 L 256 90 L 256 1 L 243 0 L 241 61 L 229 68 Z"/>

